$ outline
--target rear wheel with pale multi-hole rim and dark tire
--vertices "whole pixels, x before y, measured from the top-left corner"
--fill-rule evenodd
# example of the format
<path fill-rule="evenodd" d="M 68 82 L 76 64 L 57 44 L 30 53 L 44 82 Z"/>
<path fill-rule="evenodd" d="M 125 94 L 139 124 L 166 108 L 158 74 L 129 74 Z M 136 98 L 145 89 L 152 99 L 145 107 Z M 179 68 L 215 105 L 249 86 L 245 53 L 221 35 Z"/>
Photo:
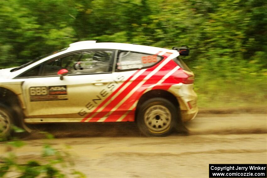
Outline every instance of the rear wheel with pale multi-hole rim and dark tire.
<path fill-rule="evenodd" d="M 165 137 L 177 126 L 177 108 L 164 98 L 153 98 L 145 101 L 137 113 L 139 130 L 150 137 Z"/>

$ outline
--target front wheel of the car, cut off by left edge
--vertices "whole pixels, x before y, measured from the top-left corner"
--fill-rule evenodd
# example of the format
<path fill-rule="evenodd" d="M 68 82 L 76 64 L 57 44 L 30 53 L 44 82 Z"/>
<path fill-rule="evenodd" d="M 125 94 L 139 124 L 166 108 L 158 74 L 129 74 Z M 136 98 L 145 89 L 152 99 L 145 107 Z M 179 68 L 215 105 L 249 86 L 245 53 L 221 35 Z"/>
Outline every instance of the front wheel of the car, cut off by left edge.
<path fill-rule="evenodd" d="M 0 103 L 0 138 L 8 138 L 11 135 L 13 114 L 6 105 Z"/>

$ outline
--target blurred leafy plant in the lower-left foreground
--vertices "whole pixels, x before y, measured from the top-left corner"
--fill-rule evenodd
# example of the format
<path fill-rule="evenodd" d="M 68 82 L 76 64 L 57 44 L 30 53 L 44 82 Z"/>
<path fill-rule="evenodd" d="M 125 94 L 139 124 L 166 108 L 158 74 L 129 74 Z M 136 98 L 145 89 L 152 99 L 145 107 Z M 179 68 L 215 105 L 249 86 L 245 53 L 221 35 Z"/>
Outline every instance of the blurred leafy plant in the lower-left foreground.
<path fill-rule="evenodd" d="M 47 139 L 53 139 L 52 134 L 43 132 Z M 29 160 L 21 161 L 14 153 L 15 148 L 20 148 L 26 143 L 21 140 L 12 140 L 6 143 L 9 148 L 8 156 L 1 158 L 0 164 L 0 177 L 8 175 L 9 172 L 17 172 L 20 175 L 18 178 L 65 178 L 65 177 L 79 177 L 83 178 L 85 175 L 73 168 L 74 162 L 70 159 L 71 155 L 64 150 L 52 148 L 52 146 L 46 142 L 43 144 L 43 150 L 41 154 L 41 160 Z M 68 147 L 66 147 L 68 148 Z M 67 176 L 66 171 L 70 173 Z"/>

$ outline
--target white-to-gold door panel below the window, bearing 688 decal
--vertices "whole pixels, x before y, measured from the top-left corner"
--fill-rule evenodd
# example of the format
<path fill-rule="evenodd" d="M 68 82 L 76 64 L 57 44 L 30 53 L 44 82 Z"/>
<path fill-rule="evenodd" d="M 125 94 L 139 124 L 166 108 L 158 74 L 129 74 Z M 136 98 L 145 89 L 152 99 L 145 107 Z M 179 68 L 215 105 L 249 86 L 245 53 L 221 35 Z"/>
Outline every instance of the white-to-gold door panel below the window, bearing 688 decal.
<path fill-rule="evenodd" d="M 27 116 L 82 117 L 78 114 L 82 109 L 92 110 L 109 94 L 107 85 L 113 80 L 111 73 L 65 76 L 63 80 L 59 76 L 27 78 L 22 86 Z"/>

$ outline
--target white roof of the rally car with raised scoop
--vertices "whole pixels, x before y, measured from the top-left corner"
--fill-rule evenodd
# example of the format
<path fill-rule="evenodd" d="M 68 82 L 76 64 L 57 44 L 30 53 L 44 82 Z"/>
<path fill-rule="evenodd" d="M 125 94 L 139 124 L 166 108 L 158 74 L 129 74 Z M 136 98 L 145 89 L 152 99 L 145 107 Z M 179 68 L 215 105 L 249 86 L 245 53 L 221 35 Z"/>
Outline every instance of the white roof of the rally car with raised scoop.
<path fill-rule="evenodd" d="M 166 48 L 159 48 L 154 46 L 144 46 L 128 43 L 96 43 L 96 41 L 79 41 L 69 45 L 69 50 L 84 50 L 84 49 L 114 49 L 114 50 L 125 50 L 125 51 L 137 51 L 144 53 L 155 54 L 159 51 L 166 51 L 174 53 L 175 50 Z M 177 51 L 176 51 L 177 52 Z"/>

